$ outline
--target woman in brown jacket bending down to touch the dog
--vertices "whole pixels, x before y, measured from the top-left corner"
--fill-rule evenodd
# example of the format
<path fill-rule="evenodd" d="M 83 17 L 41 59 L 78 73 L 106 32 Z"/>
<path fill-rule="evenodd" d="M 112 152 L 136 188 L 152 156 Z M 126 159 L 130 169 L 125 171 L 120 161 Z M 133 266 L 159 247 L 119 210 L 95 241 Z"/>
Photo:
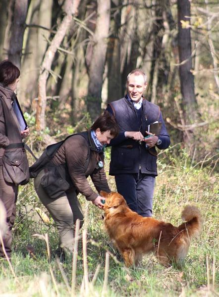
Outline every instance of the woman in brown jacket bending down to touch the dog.
<path fill-rule="evenodd" d="M 83 194 L 99 208 L 104 206 L 101 202 L 104 198 L 93 191 L 87 177 L 91 177 L 98 193 L 101 190 L 110 192 L 104 171 L 104 150 L 105 145 L 117 134 L 118 126 L 114 117 L 106 112 L 94 122 L 90 130 L 68 137 L 46 168 L 35 178 L 36 192 L 55 220 L 60 250 L 72 252 L 74 224 L 77 219 L 80 220 L 80 226 L 83 224 L 83 213 L 77 194 Z M 57 168 L 62 176 L 62 173 L 65 173 L 64 179 L 70 184 L 69 189 L 63 193 L 60 193 L 60 188 L 57 187 L 58 195 L 54 193 L 58 178 L 50 180 L 52 174 L 55 174 L 54 168 Z M 53 180 L 54 183 L 51 182 Z M 60 187 L 62 186 L 63 182 L 60 183 Z"/>

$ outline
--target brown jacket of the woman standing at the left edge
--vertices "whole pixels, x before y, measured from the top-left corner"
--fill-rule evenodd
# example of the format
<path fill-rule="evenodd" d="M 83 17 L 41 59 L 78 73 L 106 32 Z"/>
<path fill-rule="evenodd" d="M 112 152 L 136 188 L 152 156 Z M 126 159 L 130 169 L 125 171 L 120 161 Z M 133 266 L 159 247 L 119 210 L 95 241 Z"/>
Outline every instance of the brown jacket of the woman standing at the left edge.
<path fill-rule="evenodd" d="M 13 143 L 22 142 L 20 125 L 11 105 L 13 94 L 13 91 L 11 91 L 9 88 L 2 87 L 0 84 L 0 165 L 1 158 L 4 154 L 4 149 L 10 144 L 9 139 L 6 136 L 5 125 L 7 126 L 7 129 L 13 131 Z M 10 118 L 5 118 L 1 100 L 4 100 L 6 103 L 9 113 L 11 114 Z"/>

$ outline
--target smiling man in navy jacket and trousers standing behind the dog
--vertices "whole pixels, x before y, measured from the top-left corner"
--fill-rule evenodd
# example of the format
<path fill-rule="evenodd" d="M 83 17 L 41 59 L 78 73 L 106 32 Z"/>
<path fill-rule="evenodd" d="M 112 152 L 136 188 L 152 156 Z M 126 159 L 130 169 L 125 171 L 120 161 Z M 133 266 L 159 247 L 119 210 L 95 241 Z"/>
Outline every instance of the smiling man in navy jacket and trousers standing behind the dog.
<path fill-rule="evenodd" d="M 115 116 L 119 135 L 110 141 L 110 175 L 115 176 L 117 191 L 128 206 L 144 217 L 152 216 L 153 194 L 157 173 L 157 151 L 168 148 L 169 135 L 162 113 L 142 96 L 147 77 L 135 69 L 127 77 L 127 95 L 110 102 L 107 110 Z M 150 132 L 160 126 L 157 135 Z M 149 136 L 145 138 L 146 136 Z"/>

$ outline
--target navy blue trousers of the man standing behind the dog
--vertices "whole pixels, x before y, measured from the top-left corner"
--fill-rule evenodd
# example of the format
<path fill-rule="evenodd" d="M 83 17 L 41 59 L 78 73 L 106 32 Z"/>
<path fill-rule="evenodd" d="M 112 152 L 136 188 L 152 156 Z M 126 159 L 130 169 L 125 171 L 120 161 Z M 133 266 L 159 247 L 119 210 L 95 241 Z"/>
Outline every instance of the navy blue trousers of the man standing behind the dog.
<path fill-rule="evenodd" d="M 143 217 L 152 216 L 155 176 L 148 174 L 116 174 L 116 188 L 129 208 Z"/>

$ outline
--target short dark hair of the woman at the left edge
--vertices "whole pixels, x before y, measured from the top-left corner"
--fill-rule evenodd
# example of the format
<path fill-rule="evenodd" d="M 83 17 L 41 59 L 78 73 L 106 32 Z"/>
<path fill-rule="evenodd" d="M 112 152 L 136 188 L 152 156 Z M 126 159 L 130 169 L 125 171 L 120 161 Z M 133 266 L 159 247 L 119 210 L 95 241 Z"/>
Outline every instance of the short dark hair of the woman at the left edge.
<path fill-rule="evenodd" d="M 9 60 L 0 62 L 0 83 L 4 87 L 13 84 L 20 76 L 20 70 Z"/>

